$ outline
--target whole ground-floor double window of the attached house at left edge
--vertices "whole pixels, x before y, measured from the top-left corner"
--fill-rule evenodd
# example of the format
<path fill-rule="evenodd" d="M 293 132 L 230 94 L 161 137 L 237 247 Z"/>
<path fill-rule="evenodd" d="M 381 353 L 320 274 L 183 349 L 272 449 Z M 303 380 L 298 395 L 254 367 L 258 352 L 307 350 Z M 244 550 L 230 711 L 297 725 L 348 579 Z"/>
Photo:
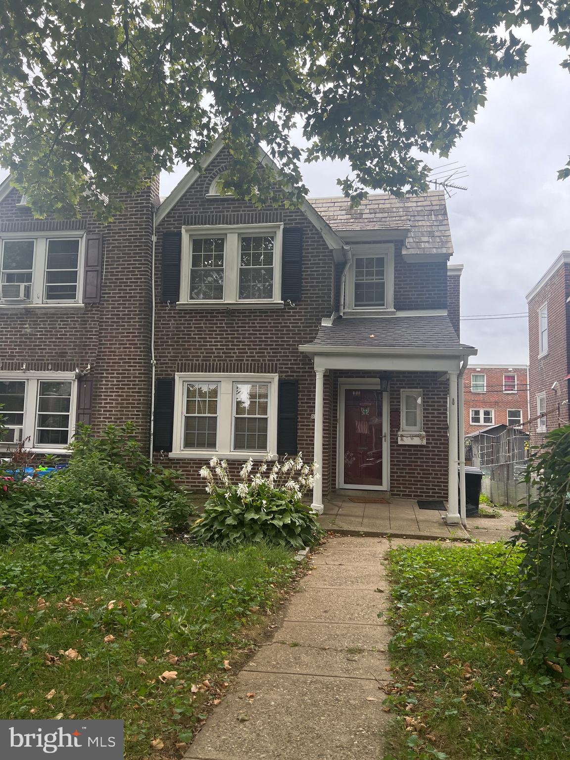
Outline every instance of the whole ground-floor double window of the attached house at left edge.
<path fill-rule="evenodd" d="M 75 417 L 72 375 L 2 372 L 0 404 L 3 448 L 24 442 L 27 448 L 65 451 Z"/>

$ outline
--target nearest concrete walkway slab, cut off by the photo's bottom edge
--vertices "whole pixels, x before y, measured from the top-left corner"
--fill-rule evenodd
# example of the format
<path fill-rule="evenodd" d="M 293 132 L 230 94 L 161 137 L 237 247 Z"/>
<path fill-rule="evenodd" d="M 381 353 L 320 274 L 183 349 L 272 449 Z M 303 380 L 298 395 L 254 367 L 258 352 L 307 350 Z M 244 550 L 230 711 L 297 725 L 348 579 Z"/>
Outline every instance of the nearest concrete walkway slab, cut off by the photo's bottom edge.
<path fill-rule="evenodd" d="M 375 760 L 381 753 L 389 718 L 375 681 L 242 671 L 237 686 L 185 760 Z"/>

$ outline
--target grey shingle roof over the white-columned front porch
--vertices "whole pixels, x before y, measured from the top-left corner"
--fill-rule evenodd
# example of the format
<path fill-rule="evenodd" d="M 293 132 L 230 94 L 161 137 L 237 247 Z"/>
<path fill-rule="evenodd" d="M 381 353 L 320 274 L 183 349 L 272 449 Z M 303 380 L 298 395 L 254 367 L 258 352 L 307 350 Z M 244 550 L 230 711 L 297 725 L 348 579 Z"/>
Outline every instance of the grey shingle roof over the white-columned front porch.
<path fill-rule="evenodd" d="M 461 348 L 447 316 L 347 317 L 321 327 L 313 346 Z"/>

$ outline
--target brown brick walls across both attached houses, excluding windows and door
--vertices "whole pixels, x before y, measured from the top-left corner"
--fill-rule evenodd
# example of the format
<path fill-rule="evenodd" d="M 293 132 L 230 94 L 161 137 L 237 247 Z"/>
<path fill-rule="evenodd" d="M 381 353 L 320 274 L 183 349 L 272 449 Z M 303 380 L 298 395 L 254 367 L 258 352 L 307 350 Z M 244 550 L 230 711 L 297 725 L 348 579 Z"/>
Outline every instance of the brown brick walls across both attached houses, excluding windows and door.
<path fill-rule="evenodd" d="M 257 373 L 298 382 L 298 448 L 313 456 L 315 372 L 299 345 L 314 340 L 322 318 L 338 309 L 343 263 L 335 263 L 325 239 L 302 211 L 285 207 L 257 209 L 233 198 L 207 197 L 211 182 L 226 166 L 224 154 L 212 160 L 204 175 L 179 198 L 156 228 L 153 261 L 153 215 L 157 183 L 135 197 L 124 198 L 125 211 L 101 226 L 81 220 L 33 220 L 27 207 L 17 207 L 15 190 L 0 202 L 0 232 L 78 230 L 103 233 L 104 268 L 98 303 L 70 306 L 24 306 L 0 309 L 0 371 L 27 369 L 84 371 L 93 378 L 91 423 L 133 420 L 144 445 L 150 439 L 152 385 L 152 280 L 155 286 L 154 372 L 156 378 L 176 373 Z M 214 226 L 279 223 L 302 227 L 302 292 L 283 306 L 184 309 L 161 302 L 163 233 L 185 225 Z M 459 277 L 448 277 L 445 261 L 405 261 L 401 240 L 394 244 L 394 308 L 401 311 L 450 309 L 459 322 Z M 451 281 L 453 280 L 453 281 Z M 241 305 L 240 305 L 241 306 Z M 370 373 L 325 375 L 323 492 L 337 483 L 337 381 Z M 398 445 L 401 388 L 423 390 L 426 445 Z M 391 380 L 390 486 L 394 496 L 445 498 L 447 495 L 447 380 L 435 372 L 397 372 Z M 188 486 L 203 485 L 203 458 L 157 452 L 155 460 L 176 469 Z M 245 458 L 247 458 L 245 456 Z M 242 461 L 230 461 L 236 474 Z"/>

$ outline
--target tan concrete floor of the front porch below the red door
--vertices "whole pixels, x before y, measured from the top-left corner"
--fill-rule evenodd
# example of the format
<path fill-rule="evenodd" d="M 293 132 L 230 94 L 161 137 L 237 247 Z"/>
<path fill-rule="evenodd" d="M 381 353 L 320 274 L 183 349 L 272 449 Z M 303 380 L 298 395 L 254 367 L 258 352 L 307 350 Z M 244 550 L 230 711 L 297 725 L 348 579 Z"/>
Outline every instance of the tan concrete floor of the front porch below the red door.
<path fill-rule="evenodd" d="M 366 495 L 340 496 L 332 494 L 323 501 L 325 510 L 319 522 L 325 530 L 365 536 L 392 535 L 400 538 L 426 538 L 466 540 L 467 530 L 459 525 L 446 525 L 442 520 L 445 511 L 420 509 L 415 499 L 390 497 L 388 503 L 374 501 L 370 493 L 369 502 L 355 502 L 352 499 L 366 499 Z"/>

